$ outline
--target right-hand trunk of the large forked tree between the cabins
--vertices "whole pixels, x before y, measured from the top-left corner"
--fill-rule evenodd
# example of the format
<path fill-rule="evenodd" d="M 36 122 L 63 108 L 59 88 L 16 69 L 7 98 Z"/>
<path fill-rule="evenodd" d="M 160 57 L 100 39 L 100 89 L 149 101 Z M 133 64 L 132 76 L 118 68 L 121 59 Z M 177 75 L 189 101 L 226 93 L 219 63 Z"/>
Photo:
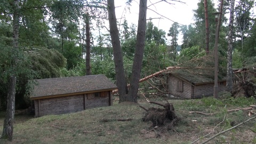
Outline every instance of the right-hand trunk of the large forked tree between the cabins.
<path fill-rule="evenodd" d="M 146 39 L 146 20 L 147 0 L 140 0 L 136 50 L 132 66 L 131 86 L 128 93 L 128 101 L 132 102 L 137 102 L 137 93 L 139 89 L 140 72 L 142 67 L 142 59 Z"/>

